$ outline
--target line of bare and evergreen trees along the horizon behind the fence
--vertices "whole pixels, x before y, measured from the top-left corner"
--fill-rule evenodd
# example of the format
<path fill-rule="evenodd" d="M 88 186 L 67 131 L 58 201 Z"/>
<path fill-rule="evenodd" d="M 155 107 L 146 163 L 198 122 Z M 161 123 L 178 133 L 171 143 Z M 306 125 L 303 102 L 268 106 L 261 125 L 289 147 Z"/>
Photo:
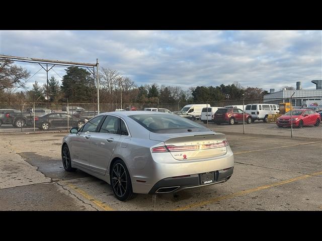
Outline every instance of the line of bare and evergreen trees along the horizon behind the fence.
<path fill-rule="evenodd" d="M 33 83 L 26 88 L 30 72 L 9 60 L 0 60 L 0 101 L 96 103 L 97 86 L 93 74 L 79 67 L 67 67 L 61 84 L 51 76 L 47 84 Z M 16 92 L 17 89 L 24 89 Z M 100 71 L 100 102 L 120 103 L 201 103 L 245 99 L 262 99 L 266 90 L 242 87 L 238 82 L 219 86 L 197 86 L 185 90 L 180 86 L 157 83 L 136 85 L 129 77 L 111 68 Z"/>

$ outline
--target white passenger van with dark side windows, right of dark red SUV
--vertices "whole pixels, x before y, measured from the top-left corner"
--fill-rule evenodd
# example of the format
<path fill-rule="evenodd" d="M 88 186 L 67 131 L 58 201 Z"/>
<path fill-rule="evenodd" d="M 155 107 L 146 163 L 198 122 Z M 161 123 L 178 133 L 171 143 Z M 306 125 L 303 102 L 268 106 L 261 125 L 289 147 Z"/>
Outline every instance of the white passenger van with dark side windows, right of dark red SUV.
<path fill-rule="evenodd" d="M 256 119 L 267 122 L 269 114 L 277 114 L 280 106 L 278 104 L 247 104 L 245 112 L 252 115 L 252 121 Z"/>

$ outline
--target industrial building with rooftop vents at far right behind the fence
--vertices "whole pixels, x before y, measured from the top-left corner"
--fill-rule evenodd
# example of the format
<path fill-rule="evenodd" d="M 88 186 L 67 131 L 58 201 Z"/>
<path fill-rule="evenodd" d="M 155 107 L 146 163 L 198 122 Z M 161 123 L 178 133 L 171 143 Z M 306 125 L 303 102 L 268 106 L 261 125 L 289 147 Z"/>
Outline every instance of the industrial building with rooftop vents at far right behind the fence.
<path fill-rule="evenodd" d="M 270 93 L 264 95 L 264 103 L 279 104 L 290 102 L 290 98 L 292 98 L 293 106 L 322 105 L 322 80 L 312 80 L 311 82 L 316 85 L 315 89 L 302 89 L 300 81 L 296 82 L 295 90 L 283 89 L 275 92 L 275 89 L 270 89 Z"/>

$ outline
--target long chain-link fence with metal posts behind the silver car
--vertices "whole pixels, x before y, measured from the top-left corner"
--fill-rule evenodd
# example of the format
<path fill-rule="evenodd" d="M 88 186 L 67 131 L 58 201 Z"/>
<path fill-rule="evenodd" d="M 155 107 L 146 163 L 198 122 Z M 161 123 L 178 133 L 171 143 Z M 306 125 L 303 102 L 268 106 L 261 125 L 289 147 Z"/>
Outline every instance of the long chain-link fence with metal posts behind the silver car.
<path fill-rule="evenodd" d="M 196 122 L 216 132 L 322 139 L 322 90 L 318 96 L 297 94 L 295 98 L 272 96 L 264 99 L 212 101 L 208 102 L 208 112 L 205 112 L 206 108 L 202 112 L 206 103 L 197 103 L 204 106 L 196 108 L 195 104 L 184 102 L 100 103 L 100 112 L 144 108 L 165 108 L 174 112 L 188 104 L 191 105 L 186 110 L 188 114 L 190 111 L 196 117 Z M 0 102 L 0 133 L 67 132 L 72 127 L 82 127 L 97 114 L 97 103 Z"/>

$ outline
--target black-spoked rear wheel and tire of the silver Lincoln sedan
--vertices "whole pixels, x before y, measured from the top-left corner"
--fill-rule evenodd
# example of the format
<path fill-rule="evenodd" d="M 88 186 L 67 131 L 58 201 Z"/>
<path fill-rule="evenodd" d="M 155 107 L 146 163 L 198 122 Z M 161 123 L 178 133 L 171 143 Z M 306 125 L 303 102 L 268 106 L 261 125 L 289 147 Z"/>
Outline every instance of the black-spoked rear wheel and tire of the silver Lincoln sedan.
<path fill-rule="evenodd" d="M 112 165 L 111 186 L 114 195 L 120 201 L 130 200 L 135 196 L 132 189 L 130 173 L 121 159 L 116 160 Z"/>

